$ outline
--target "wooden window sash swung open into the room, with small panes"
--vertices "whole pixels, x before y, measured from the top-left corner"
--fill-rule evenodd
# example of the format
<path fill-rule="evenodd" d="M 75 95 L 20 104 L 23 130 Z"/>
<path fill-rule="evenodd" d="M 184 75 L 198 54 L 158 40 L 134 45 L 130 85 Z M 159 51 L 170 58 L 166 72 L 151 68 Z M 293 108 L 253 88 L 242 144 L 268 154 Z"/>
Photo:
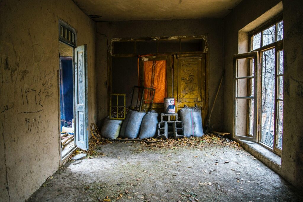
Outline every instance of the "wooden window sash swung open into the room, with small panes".
<path fill-rule="evenodd" d="M 257 141 L 259 91 L 258 51 L 234 55 L 234 116 L 233 138 Z"/>

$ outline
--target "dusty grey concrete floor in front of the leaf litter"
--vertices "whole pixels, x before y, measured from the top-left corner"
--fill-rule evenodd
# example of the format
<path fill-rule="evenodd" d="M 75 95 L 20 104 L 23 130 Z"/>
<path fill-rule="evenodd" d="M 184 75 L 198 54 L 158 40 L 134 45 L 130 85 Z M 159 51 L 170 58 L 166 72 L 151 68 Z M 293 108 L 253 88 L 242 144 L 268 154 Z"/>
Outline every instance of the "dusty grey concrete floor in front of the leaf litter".
<path fill-rule="evenodd" d="M 28 201 L 303 201 L 241 147 L 146 150 L 114 142 L 98 152 L 66 163 Z"/>

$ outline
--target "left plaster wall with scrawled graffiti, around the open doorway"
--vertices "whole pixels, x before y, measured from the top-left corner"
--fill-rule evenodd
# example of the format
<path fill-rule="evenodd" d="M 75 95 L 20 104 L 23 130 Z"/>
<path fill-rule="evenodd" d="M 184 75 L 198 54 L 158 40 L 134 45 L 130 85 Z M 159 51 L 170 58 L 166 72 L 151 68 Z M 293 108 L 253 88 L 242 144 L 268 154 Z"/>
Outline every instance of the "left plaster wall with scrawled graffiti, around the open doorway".
<path fill-rule="evenodd" d="M 0 2 L 0 199 L 24 201 L 57 169 L 58 19 L 88 47 L 88 119 L 96 122 L 95 22 L 71 0 Z"/>

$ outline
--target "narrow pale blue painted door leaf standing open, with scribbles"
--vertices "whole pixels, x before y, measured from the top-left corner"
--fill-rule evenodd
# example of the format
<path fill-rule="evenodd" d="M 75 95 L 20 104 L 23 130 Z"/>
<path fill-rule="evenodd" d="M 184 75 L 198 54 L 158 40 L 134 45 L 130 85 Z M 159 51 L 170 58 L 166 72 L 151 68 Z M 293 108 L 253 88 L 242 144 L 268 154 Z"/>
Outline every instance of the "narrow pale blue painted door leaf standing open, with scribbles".
<path fill-rule="evenodd" d="M 75 137 L 76 146 L 88 150 L 87 45 L 75 48 Z"/>

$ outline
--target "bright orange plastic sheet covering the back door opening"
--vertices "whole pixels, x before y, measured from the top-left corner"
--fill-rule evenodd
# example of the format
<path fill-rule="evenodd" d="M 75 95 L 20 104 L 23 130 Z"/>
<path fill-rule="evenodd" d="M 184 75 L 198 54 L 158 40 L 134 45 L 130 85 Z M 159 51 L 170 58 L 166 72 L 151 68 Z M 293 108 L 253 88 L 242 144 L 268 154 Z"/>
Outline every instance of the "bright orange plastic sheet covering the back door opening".
<path fill-rule="evenodd" d="M 153 66 L 154 62 L 155 66 Z M 153 86 L 152 79 L 154 80 Z M 144 87 L 156 90 L 154 103 L 163 103 L 164 98 L 167 97 L 166 82 L 166 60 L 144 61 Z M 147 98 L 148 94 L 146 92 L 144 99 L 146 100 Z"/>

